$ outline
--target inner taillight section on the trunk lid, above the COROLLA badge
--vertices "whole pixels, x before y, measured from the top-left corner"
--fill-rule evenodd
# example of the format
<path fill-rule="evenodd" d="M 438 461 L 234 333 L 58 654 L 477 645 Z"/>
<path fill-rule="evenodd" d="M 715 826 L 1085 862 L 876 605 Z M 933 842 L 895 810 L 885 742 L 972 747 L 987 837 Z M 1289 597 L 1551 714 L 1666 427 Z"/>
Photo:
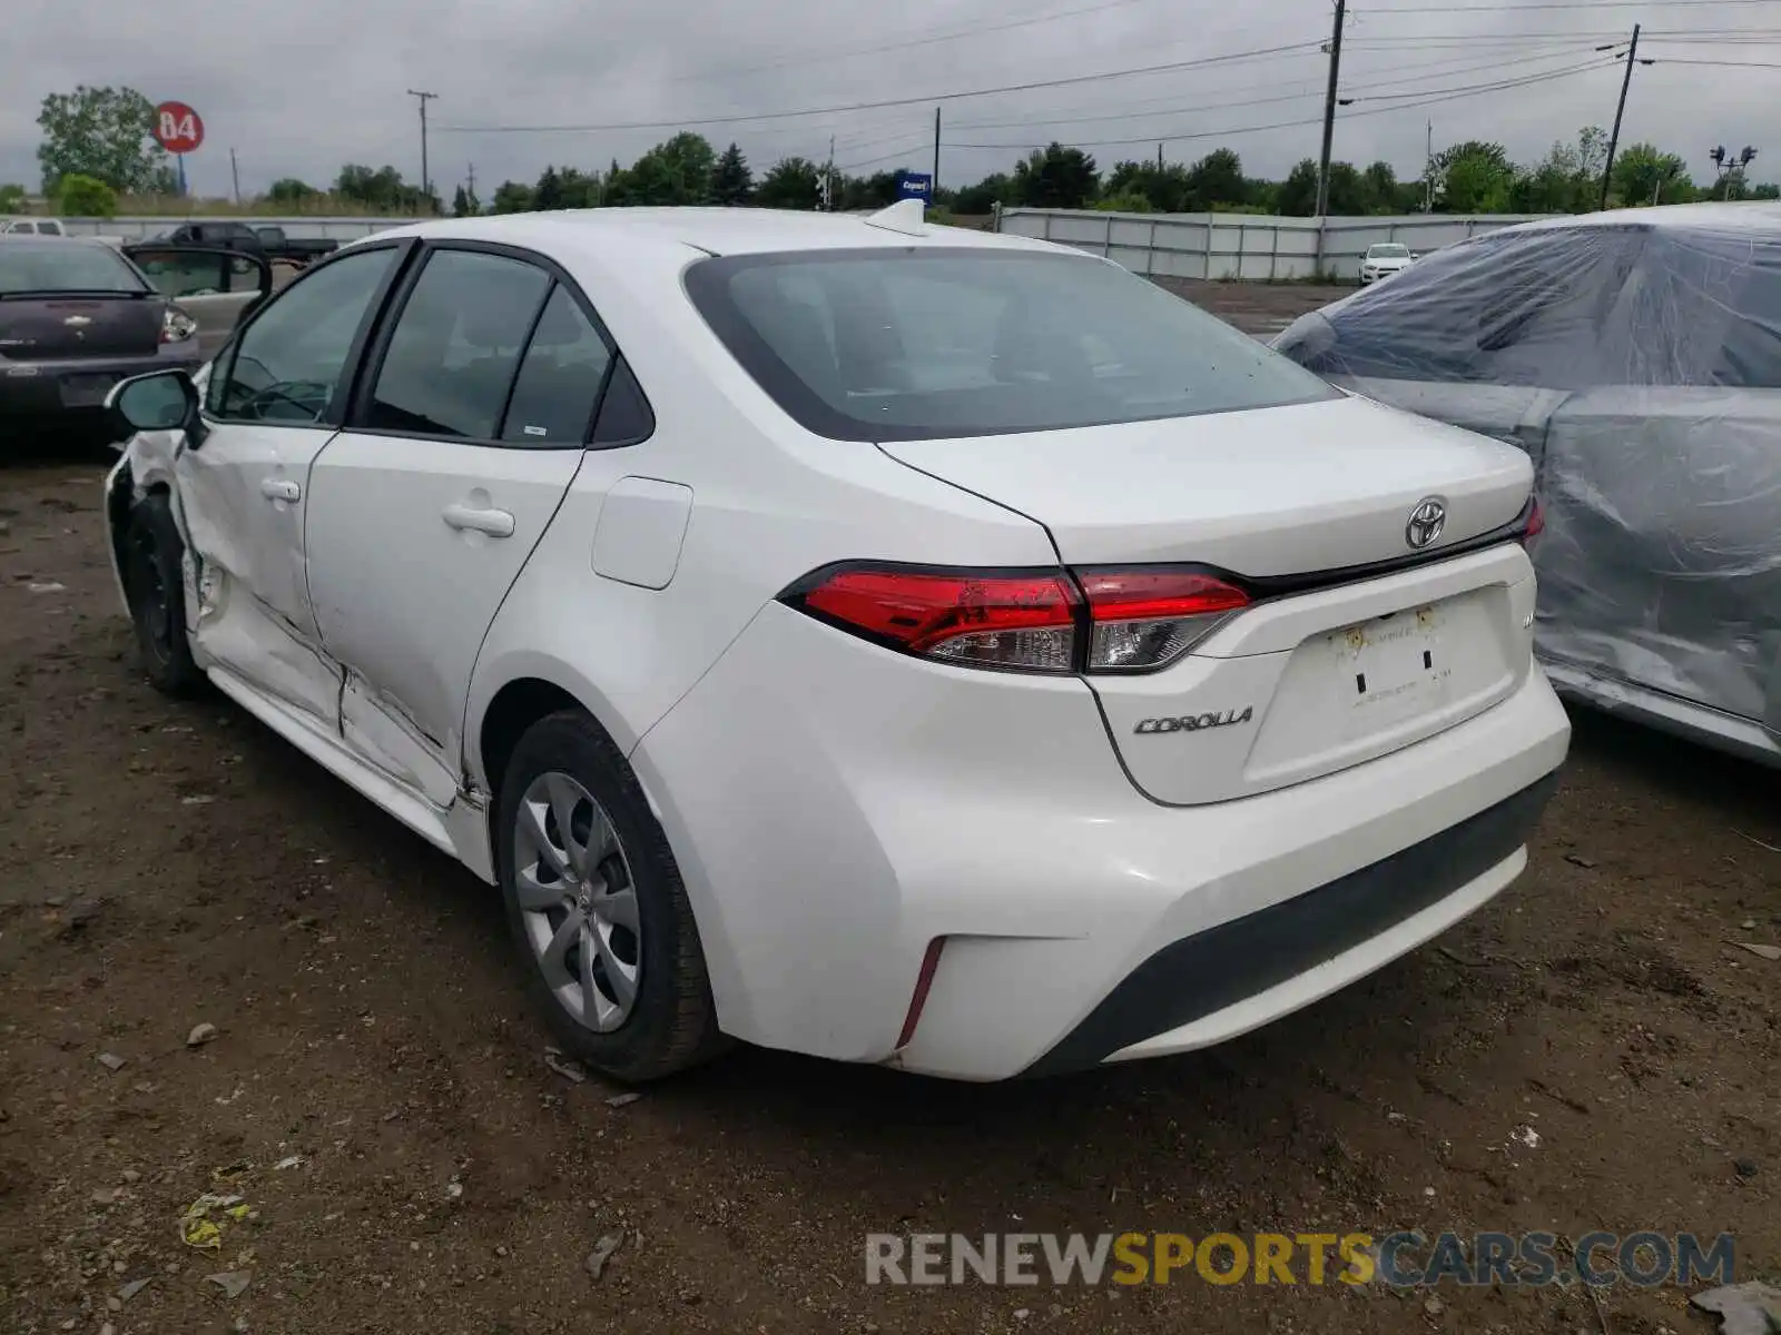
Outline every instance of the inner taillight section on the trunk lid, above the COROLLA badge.
<path fill-rule="evenodd" d="M 1088 671 L 1140 673 L 1174 662 L 1248 607 L 1234 584 L 1199 571 L 1078 571 L 1094 630 Z"/>

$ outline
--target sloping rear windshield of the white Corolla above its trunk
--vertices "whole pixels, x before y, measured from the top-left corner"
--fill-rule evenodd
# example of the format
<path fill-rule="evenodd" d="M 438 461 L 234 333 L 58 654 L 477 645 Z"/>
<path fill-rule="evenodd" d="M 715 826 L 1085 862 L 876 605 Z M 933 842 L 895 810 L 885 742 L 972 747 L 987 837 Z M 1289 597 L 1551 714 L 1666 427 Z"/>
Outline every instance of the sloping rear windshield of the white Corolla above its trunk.
<path fill-rule="evenodd" d="M 944 440 L 1332 399 L 1316 376 L 1101 260 L 958 247 L 702 260 L 687 294 L 800 424 Z"/>

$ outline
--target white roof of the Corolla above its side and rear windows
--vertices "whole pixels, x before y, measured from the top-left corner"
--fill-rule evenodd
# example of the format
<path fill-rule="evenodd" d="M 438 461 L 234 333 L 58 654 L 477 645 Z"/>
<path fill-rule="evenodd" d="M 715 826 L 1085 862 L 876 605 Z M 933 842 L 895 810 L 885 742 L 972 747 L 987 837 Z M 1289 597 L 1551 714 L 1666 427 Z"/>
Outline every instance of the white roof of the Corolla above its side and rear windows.
<path fill-rule="evenodd" d="M 374 237 L 461 237 L 549 249 L 550 242 L 680 242 L 707 255 L 771 251 L 971 246 L 983 249 L 1060 251 L 1029 237 L 944 228 L 919 231 L 874 226 L 873 215 L 810 214 L 782 208 L 568 208 L 543 214 L 454 217 L 376 231 Z"/>

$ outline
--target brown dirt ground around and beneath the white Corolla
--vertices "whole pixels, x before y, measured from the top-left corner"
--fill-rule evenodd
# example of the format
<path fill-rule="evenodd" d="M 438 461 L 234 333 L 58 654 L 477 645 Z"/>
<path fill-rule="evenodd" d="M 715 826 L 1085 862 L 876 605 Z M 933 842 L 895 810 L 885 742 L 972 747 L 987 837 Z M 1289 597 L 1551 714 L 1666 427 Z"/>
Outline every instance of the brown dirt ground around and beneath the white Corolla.
<path fill-rule="evenodd" d="M 1781 963 L 1735 945 L 1781 943 L 1777 774 L 1580 716 L 1516 886 L 1213 1052 L 976 1088 L 741 1050 L 614 1105 L 545 1064 L 492 892 L 150 691 L 100 468 L 0 465 L 7 1331 L 1710 1330 L 1624 1285 L 867 1287 L 867 1232 L 1729 1230 L 1777 1278 Z M 251 1207 L 217 1250 L 207 1191 Z"/>

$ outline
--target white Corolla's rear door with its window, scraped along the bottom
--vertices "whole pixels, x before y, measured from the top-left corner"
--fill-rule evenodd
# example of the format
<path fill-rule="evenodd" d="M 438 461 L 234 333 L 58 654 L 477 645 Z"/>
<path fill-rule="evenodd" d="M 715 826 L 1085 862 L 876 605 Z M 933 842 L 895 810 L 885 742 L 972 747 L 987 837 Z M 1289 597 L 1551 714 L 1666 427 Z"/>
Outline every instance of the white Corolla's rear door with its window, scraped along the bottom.
<path fill-rule="evenodd" d="M 458 790 L 483 635 L 581 466 L 611 361 L 559 271 L 445 242 L 317 459 L 310 591 L 346 742 L 435 806 Z"/>

